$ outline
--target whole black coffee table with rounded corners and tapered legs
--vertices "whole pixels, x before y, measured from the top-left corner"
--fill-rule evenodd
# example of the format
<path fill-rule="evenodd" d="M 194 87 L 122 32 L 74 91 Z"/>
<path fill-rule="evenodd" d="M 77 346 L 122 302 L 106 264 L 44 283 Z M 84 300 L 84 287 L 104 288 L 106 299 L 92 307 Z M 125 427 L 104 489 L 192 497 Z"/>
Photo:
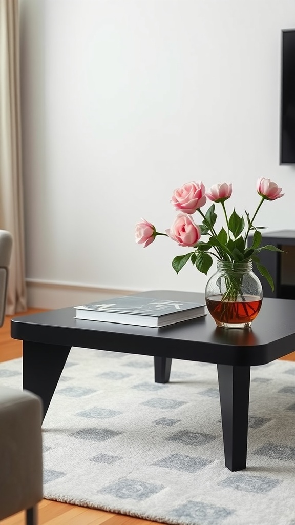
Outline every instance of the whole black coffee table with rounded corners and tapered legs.
<path fill-rule="evenodd" d="M 198 293 L 150 291 L 141 296 L 199 301 Z M 12 319 L 11 335 L 23 340 L 23 386 L 38 394 L 47 412 L 71 346 L 154 356 L 155 381 L 169 381 L 172 359 L 216 363 L 225 465 L 246 468 L 250 367 L 295 350 L 295 301 L 264 299 L 251 329 L 216 327 L 209 314 L 160 329 L 74 319 L 62 308 Z"/>

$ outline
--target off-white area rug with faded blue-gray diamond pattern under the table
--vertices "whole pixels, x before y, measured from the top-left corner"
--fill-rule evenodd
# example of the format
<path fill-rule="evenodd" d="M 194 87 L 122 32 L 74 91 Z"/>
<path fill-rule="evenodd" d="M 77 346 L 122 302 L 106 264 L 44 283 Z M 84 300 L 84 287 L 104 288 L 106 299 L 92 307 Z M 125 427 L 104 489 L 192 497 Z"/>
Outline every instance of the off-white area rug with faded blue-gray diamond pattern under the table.
<path fill-rule="evenodd" d="M 22 387 L 22 360 L 0 364 Z M 45 498 L 182 525 L 295 525 L 295 363 L 251 370 L 248 461 L 224 466 L 216 365 L 73 348 L 43 426 Z"/>

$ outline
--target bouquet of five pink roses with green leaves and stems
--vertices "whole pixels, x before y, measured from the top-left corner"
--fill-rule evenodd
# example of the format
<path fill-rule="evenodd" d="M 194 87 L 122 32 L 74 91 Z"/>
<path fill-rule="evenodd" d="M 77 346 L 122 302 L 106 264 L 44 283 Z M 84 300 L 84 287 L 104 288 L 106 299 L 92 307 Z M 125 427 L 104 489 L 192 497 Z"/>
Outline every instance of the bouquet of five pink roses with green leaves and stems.
<path fill-rule="evenodd" d="M 260 201 L 254 211 L 250 214 L 245 210 L 245 217 L 236 213 L 235 208 L 229 215 L 226 209 L 226 201 L 231 197 L 232 185 L 226 182 L 214 184 L 206 191 L 202 182 L 188 182 L 174 190 L 171 203 L 179 212 L 169 229 L 165 233 L 157 232 L 156 227 L 145 219 L 136 224 L 135 241 L 143 247 L 149 246 L 157 236 L 166 236 L 175 241 L 181 247 L 191 247 L 188 253 L 176 256 L 172 266 L 176 273 L 190 260 L 191 263 L 203 274 L 207 275 L 213 264 L 213 257 L 231 269 L 236 269 L 241 264 L 246 265 L 249 261 L 254 263 L 261 276 L 265 277 L 273 291 L 274 285 L 271 275 L 265 266 L 260 263 L 259 253 L 261 250 L 282 251 L 279 248 L 266 245 L 260 246 L 262 235 L 254 221 L 257 213 L 265 201 L 275 201 L 282 197 L 280 188 L 275 182 L 264 177 L 259 178 L 256 190 Z M 203 212 L 207 199 L 213 204 Z M 224 226 L 216 230 L 216 205 L 220 205 L 224 215 Z M 193 219 L 195 213 L 199 214 L 199 221 Z M 249 234 L 251 237 L 248 239 Z M 205 238 L 205 240 L 201 240 Z M 251 242 L 249 243 L 249 240 Z M 245 301 L 241 290 L 243 275 L 229 273 L 225 279 L 223 289 L 219 281 L 220 301 Z"/>

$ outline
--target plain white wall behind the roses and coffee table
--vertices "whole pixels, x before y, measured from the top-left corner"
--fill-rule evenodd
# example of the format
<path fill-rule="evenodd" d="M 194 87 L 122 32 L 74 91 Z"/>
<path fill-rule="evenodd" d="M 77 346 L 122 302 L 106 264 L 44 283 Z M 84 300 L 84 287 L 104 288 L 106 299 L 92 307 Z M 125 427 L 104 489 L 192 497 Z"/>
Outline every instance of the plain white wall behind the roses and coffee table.
<path fill-rule="evenodd" d="M 251 213 L 258 176 L 271 178 L 286 195 L 258 223 L 295 229 L 295 170 L 279 165 L 293 0 L 20 5 L 29 282 L 203 291 L 191 265 L 172 269 L 183 248 L 134 242 L 140 217 L 171 225 L 172 192 L 190 180 L 233 182 L 231 206 Z"/>

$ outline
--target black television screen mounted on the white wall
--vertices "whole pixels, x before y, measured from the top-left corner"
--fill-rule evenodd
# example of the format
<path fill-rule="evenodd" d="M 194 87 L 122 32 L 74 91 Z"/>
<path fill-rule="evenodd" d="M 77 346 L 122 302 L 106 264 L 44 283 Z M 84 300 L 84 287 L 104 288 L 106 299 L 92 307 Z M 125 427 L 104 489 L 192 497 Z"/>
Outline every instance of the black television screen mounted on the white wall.
<path fill-rule="evenodd" d="M 295 163 L 295 29 L 282 30 L 280 163 Z"/>

